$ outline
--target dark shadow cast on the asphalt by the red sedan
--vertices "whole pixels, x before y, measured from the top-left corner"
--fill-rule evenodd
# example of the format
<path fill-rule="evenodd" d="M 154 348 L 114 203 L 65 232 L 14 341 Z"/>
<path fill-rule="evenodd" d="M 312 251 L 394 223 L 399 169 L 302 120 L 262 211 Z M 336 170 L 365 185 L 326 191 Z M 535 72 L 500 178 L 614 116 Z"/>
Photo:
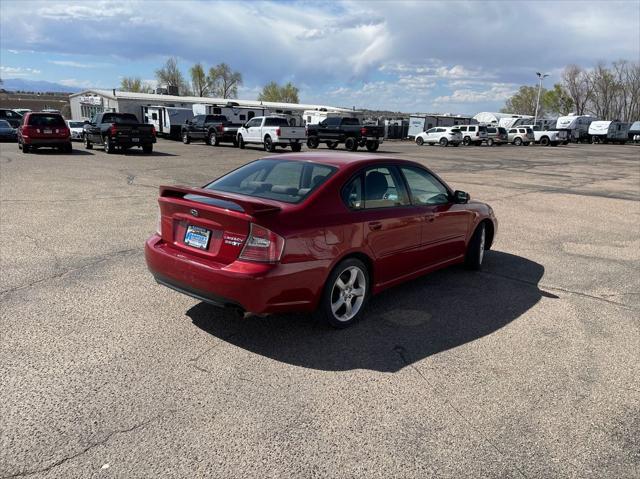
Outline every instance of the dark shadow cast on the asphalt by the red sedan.
<path fill-rule="evenodd" d="M 394 372 L 487 336 L 519 318 L 542 296 L 544 267 L 488 252 L 483 271 L 454 266 L 375 296 L 363 319 L 333 330 L 312 315 L 241 319 L 199 303 L 187 315 L 209 334 L 284 363 L 326 371 Z"/>

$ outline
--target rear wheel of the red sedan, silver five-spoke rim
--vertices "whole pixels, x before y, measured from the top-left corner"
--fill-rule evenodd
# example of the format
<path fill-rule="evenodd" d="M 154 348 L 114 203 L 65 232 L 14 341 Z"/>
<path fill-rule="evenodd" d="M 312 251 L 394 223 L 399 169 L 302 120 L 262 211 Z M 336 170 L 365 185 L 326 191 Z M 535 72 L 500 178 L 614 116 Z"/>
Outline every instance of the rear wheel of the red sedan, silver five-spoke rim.
<path fill-rule="evenodd" d="M 356 258 L 342 261 L 329 275 L 320 310 L 326 322 L 337 329 L 357 322 L 369 299 L 369 271 Z"/>

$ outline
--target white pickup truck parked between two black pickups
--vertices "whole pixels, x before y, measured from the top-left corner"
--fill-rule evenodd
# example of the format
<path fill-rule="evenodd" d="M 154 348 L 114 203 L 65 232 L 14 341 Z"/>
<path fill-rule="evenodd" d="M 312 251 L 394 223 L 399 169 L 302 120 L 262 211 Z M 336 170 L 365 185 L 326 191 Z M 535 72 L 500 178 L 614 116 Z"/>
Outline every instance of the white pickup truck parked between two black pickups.
<path fill-rule="evenodd" d="M 280 116 L 256 116 L 238 130 L 238 146 L 254 143 L 267 151 L 275 151 L 276 146 L 290 146 L 293 151 L 302 149 L 307 133 L 303 126 L 289 126 L 286 118 Z"/>

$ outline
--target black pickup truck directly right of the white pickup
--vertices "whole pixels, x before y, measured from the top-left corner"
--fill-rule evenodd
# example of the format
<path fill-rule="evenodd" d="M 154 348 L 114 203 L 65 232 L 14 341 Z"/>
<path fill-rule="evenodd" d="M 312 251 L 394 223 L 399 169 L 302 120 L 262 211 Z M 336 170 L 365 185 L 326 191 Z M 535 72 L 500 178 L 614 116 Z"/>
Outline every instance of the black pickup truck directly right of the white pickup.
<path fill-rule="evenodd" d="M 317 125 L 307 125 L 307 146 L 318 148 L 320 143 L 332 150 L 340 143 L 349 151 L 356 151 L 358 146 L 366 146 L 369 151 L 376 151 L 384 138 L 384 127 L 362 125 L 360 120 L 351 117 L 329 117 Z"/>

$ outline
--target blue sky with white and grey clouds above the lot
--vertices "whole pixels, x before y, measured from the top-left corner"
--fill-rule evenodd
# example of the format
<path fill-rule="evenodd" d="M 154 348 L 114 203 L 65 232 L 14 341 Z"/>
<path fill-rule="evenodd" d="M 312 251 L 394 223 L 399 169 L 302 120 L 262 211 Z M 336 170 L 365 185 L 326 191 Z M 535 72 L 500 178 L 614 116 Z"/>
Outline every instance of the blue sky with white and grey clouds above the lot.
<path fill-rule="evenodd" d="M 473 114 L 536 71 L 640 61 L 640 0 L 0 0 L 3 79 L 110 89 L 170 56 L 230 64 L 243 99 L 291 81 L 304 103 Z"/>

